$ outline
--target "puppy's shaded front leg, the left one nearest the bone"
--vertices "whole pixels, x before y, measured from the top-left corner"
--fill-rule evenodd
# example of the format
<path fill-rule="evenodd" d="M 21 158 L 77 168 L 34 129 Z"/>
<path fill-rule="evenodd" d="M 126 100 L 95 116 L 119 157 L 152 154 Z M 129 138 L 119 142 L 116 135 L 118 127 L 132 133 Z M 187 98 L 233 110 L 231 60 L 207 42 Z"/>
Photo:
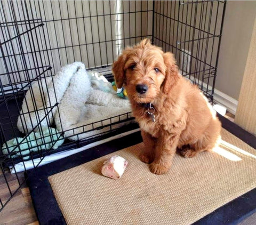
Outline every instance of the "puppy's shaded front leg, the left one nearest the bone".
<path fill-rule="evenodd" d="M 141 151 L 140 160 L 143 163 L 152 163 L 155 158 L 155 143 L 156 140 L 149 133 L 141 131 L 141 136 L 143 143 L 145 144 L 145 149 Z"/>

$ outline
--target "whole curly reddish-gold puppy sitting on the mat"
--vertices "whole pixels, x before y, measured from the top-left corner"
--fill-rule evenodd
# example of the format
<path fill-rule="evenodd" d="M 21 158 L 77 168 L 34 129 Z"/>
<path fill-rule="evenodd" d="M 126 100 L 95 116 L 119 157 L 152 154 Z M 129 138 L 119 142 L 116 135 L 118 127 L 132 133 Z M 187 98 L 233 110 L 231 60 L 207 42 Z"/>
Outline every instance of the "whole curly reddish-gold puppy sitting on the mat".
<path fill-rule="evenodd" d="M 145 143 L 140 159 L 151 172 L 169 171 L 177 150 L 190 158 L 215 146 L 221 123 L 198 87 L 179 75 L 172 53 L 143 39 L 123 51 L 113 74 L 127 91 Z"/>

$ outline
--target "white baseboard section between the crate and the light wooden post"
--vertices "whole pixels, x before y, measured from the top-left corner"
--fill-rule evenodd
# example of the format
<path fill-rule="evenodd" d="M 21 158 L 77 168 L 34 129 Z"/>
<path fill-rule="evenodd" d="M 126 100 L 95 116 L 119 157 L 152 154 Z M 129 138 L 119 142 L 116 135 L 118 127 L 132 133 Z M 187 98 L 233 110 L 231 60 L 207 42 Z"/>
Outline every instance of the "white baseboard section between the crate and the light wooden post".
<path fill-rule="evenodd" d="M 231 114 L 236 115 L 238 101 L 231 98 L 229 95 L 215 89 L 213 95 L 213 102 L 225 106 Z"/>

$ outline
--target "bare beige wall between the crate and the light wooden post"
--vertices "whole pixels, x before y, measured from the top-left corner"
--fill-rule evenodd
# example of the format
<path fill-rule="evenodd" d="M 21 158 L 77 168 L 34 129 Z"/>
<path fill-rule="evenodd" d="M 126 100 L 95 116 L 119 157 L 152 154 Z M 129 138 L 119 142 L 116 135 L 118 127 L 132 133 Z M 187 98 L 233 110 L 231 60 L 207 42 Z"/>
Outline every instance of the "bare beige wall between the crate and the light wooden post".
<path fill-rule="evenodd" d="M 228 1 L 215 88 L 238 100 L 256 16 L 256 1 Z"/>

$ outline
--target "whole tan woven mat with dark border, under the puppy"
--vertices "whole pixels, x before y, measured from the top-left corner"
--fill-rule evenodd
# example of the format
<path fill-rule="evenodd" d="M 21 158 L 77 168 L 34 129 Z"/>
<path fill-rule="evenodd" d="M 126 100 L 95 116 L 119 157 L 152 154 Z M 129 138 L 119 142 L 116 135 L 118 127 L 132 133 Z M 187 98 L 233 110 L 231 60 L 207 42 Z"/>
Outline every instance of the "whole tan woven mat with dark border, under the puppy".
<path fill-rule="evenodd" d="M 164 175 L 150 173 L 140 162 L 139 133 L 28 171 L 39 222 L 237 224 L 256 212 L 256 138 L 220 119 L 223 150 L 191 159 L 177 155 Z M 129 165 L 122 178 L 112 180 L 100 174 L 100 166 L 116 150 Z"/>

